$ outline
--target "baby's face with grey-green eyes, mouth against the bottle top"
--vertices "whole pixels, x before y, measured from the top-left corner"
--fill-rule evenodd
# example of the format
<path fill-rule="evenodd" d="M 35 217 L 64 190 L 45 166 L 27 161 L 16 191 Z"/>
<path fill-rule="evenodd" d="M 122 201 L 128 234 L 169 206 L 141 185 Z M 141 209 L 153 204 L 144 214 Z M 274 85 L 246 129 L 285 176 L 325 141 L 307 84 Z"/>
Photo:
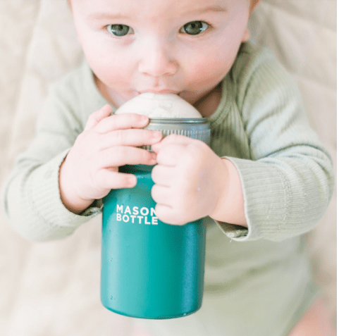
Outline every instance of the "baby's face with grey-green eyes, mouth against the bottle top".
<path fill-rule="evenodd" d="M 141 92 L 195 104 L 247 39 L 250 0 L 72 0 L 87 61 L 117 107 Z"/>

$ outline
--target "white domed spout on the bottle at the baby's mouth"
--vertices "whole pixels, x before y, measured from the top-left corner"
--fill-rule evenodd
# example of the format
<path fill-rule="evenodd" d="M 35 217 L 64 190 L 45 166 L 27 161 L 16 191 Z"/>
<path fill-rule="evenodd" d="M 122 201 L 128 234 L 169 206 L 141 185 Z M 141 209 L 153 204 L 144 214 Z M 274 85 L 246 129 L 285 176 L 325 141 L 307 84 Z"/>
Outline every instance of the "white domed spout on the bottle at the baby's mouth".
<path fill-rule="evenodd" d="M 144 92 L 130 99 L 115 114 L 137 113 L 149 118 L 202 118 L 192 105 L 176 94 Z"/>

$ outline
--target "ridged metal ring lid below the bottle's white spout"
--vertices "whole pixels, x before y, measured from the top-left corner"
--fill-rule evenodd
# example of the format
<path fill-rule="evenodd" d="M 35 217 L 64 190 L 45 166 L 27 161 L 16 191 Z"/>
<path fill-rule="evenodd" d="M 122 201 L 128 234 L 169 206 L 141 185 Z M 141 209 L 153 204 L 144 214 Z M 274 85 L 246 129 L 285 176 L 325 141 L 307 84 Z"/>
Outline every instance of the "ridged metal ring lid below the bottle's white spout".
<path fill-rule="evenodd" d="M 171 134 L 184 135 L 209 144 L 211 129 L 207 118 L 150 118 L 146 130 L 160 130 L 163 137 Z M 151 146 L 142 148 L 151 150 Z"/>

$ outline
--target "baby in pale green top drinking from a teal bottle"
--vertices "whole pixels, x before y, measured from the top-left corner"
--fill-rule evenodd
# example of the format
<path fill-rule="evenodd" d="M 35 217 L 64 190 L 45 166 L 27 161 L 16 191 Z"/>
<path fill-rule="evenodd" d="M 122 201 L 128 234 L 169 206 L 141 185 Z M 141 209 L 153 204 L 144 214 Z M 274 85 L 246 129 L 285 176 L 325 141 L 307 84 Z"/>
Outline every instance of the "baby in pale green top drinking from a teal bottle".
<path fill-rule="evenodd" d="M 304 242 L 331 199 L 331 158 L 291 77 L 248 42 L 258 3 L 69 1 L 86 61 L 54 85 L 8 180 L 8 217 L 36 241 L 70 235 L 111 189 L 134 187 L 118 171 L 127 164 L 156 165 L 159 220 L 209 218 L 202 309 L 143 321 L 152 335 L 333 335 Z M 143 92 L 195 106 L 210 147 L 162 139 L 133 111 L 114 115 Z"/>

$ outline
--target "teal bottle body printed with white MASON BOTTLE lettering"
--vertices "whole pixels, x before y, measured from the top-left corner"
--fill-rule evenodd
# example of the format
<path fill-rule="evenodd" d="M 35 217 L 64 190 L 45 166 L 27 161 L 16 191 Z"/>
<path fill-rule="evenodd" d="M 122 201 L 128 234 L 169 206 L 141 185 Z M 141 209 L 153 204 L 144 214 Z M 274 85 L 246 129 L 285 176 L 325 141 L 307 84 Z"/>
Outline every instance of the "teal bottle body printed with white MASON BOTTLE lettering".
<path fill-rule="evenodd" d="M 202 305 L 206 223 L 169 225 L 156 218 L 150 166 L 125 166 L 132 189 L 104 198 L 101 302 L 136 318 L 176 318 Z"/>

